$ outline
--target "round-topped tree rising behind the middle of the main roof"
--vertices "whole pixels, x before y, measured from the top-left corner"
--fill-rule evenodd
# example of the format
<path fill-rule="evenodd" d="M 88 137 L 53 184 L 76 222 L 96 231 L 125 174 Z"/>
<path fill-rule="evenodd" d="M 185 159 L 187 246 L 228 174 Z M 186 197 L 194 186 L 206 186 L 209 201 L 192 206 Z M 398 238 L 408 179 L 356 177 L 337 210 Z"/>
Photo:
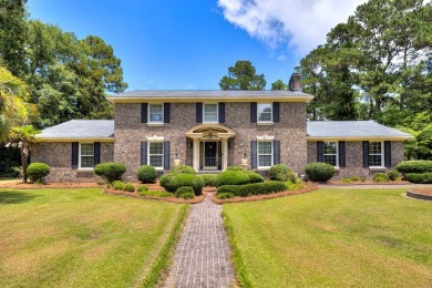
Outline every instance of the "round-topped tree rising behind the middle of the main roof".
<path fill-rule="evenodd" d="M 239 60 L 228 68 L 228 75 L 222 78 L 222 90 L 264 90 L 267 81 L 264 74 L 257 74 L 250 61 Z"/>

